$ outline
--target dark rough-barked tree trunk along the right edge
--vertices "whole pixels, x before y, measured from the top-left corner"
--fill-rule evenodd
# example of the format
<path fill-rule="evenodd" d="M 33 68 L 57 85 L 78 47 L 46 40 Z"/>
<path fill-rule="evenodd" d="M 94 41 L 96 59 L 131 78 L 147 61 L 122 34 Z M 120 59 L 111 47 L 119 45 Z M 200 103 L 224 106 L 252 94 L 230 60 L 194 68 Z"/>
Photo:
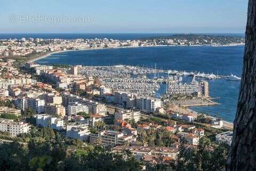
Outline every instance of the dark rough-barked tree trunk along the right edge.
<path fill-rule="evenodd" d="M 227 170 L 256 170 L 256 0 L 249 0 L 242 82 Z"/>

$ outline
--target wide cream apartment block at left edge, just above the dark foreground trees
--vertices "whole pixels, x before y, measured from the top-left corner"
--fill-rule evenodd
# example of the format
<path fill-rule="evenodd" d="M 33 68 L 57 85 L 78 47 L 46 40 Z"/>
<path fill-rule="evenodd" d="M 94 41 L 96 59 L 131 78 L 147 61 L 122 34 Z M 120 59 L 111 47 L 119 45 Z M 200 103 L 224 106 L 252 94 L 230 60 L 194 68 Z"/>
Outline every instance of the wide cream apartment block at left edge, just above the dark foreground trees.
<path fill-rule="evenodd" d="M 0 131 L 10 133 L 12 136 L 17 136 L 21 133 L 29 133 L 29 128 L 30 125 L 28 123 L 0 118 Z"/>

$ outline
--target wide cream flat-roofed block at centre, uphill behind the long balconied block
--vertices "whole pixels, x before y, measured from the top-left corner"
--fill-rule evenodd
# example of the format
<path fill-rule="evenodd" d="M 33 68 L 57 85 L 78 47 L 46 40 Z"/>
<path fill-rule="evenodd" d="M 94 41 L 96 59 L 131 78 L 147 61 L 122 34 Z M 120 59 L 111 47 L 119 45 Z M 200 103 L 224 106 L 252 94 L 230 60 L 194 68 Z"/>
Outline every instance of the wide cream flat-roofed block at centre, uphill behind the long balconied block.
<path fill-rule="evenodd" d="M 140 120 L 140 111 L 124 110 L 115 112 L 115 119 L 131 120 L 134 119 L 135 123 Z"/>

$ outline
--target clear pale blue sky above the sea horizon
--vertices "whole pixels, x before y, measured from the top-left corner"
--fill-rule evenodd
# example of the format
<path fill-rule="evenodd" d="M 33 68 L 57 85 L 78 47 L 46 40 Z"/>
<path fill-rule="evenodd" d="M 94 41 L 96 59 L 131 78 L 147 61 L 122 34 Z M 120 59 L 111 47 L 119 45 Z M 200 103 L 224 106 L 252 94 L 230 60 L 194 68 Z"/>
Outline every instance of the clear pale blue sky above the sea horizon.
<path fill-rule="evenodd" d="M 247 3 L 248 0 L 1 0 L 0 32 L 243 33 Z M 92 21 L 73 21 L 81 17 L 92 17 Z M 67 21 L 58 21 L 63 18 Z"/>

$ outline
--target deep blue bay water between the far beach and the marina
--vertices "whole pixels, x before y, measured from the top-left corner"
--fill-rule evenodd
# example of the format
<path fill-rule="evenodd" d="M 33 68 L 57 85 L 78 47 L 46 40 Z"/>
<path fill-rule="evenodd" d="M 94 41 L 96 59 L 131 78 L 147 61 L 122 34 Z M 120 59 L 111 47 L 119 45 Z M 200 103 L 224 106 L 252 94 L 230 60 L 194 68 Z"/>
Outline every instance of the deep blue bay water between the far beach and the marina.
<path fill-rule="evenodd" d="M 134 66 L 200 71 L 205 73 L 241 76 L 244 46 L 162 46 L 115 48 L 88 51 L 72 51 L 53 54 L 38 60 L 41 64 L 83 64 L 106 66 L 129 64 Z M 219 114 L 227 121 L 235 118 L 239 82 L 209 80 L 210 95 L 220 97 L 221 103 L 212 107 L 192 107 L 195 111 Z"/>

